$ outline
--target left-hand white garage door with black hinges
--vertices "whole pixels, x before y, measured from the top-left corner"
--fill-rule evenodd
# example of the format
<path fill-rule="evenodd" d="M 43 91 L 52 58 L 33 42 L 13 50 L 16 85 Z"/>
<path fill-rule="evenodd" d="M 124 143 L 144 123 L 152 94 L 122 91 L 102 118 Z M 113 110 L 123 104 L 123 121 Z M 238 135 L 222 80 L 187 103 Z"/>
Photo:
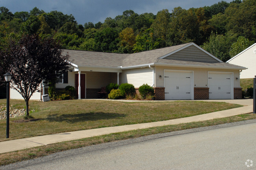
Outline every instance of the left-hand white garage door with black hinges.
<path fill-rule="evenodd" d="M 165 100 L 194 99 L 193 71 L 164 71 Z"/>

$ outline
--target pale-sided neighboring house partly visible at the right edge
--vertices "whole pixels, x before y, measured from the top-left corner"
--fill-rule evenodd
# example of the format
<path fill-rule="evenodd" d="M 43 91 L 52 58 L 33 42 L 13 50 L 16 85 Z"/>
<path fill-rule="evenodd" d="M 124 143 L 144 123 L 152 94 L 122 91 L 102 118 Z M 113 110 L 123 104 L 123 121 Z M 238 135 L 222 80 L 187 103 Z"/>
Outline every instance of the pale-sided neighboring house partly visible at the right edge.
<path fill-rule="evenodd" d="M 256 43 L 252 44 L 227 62 L 248 68 L 240 73 L 240 79 L 254 78 L 256 75 Z"/>

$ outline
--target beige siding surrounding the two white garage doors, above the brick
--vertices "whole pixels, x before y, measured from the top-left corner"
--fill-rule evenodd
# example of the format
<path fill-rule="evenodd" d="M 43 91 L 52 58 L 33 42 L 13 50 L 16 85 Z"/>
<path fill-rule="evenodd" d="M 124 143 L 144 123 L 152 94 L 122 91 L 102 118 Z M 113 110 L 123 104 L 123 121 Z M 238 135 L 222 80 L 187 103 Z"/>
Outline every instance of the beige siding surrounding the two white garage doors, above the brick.
<path fill-rule="evenodd" d="M 156 67 L 156 87 L 164 87 L 163 71 L 165 69 L 194 71 L 194 84 L 193 84 L 194 87 L 208 87 L 208 71 L 234 72 L 234 88 L 240 88 L 239 70 L 182 68 L 182 67 L 163 67 L 163 66 Z M 160 75 L 162 76 L 162 78 L 159 77 Z M 236 77 L 238 79 L 236 79 Z"/>

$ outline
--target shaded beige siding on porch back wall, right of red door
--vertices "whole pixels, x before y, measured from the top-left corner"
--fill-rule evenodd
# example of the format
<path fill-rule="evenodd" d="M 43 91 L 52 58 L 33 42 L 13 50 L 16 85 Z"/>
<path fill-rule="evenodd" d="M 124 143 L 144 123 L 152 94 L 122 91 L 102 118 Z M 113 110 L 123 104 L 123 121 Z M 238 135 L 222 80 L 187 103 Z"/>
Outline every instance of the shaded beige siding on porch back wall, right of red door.
<path fill-rule="evenodd" d="M 106 87 L 109 83 L 114 80 L 114 76 L 117 77 L 117 73 L 109 73 L 109 72 L 93 72 L 93 71 L 85 71 L 81 74 L 85 75 L 86 79 L 86 88 L 102 88 Z M 117 80 L 116 80 L 117 81 Z M 114 82 L 117 83 L 117 82 Z"/>

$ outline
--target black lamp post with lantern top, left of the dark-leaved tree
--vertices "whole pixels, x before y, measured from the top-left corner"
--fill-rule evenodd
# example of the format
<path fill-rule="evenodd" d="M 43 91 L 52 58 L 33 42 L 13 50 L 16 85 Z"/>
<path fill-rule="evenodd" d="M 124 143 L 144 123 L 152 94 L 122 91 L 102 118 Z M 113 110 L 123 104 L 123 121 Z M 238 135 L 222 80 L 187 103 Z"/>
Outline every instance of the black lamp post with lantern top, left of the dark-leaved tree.
<path fill-rule="evenodd" d="M 4 75 L 6 80 L 6 138 L 9 138 L 9 108 L 10 108 L 10 81 L 11 73 Z"/>

